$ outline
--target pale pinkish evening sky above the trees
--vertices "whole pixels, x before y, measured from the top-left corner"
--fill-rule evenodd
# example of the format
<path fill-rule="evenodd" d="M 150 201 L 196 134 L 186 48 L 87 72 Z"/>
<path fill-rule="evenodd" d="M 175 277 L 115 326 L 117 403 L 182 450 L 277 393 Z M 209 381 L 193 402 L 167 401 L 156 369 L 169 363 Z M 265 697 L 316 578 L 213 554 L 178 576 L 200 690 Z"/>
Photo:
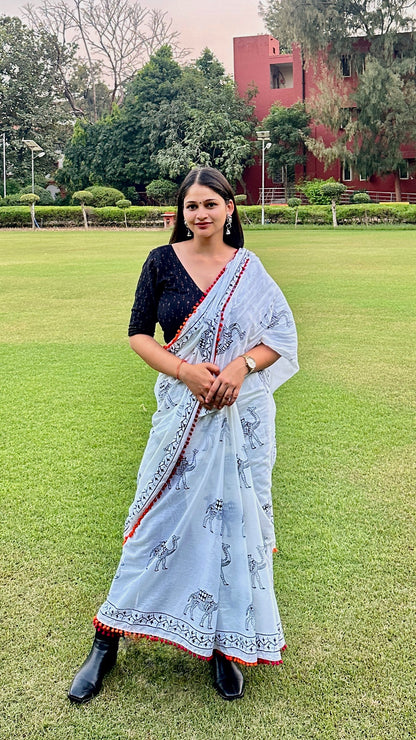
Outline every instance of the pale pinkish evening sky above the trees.
<path fill-rule="evenodd" d="M 25 4 L 26 0 L 0 0 L 0 14 L 20 15 Z M 167 11 L 181 34 L 181 45 L 191 49 L 190 58 L 208 46 L 229 73 L 233 71 L 233 37 L 266 33 L 257 0 L 143 0 L 141 5 Z"/>

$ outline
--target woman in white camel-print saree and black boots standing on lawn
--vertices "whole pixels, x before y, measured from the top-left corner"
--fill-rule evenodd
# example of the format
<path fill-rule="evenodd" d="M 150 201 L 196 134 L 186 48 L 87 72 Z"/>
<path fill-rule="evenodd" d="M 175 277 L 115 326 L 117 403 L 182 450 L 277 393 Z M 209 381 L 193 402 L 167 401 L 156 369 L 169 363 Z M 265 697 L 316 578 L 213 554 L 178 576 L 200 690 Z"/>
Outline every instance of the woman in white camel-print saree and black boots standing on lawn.
<path fill-rule="evenodd" d="M 286 300 L 243 248 L 234 195 L 192 170 L 171 243 L 136 291 L 130 344 L 159 371 L 157 411 L 126 521 L 123 554 L 69 698 L 91 699 L 120 636 L 146 636 L 211 660 L 227 700 L 238 664 L 281 663 L 273 590 L 273 391 L 298 369 Z M 153 338 L 161 324 L 166 344 Z"/>

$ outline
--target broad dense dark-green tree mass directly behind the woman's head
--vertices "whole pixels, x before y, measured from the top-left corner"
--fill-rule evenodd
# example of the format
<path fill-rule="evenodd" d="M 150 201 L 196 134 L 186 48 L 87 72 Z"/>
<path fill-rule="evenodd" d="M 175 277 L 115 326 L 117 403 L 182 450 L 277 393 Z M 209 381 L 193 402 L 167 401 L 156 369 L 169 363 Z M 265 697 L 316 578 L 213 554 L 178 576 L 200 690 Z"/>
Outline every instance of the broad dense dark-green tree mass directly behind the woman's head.
<path fill-rule="evenodd" d="M 120 108 L 94 126 L 77 124 L 64 174 L 76 189 L 106 182 L 144 190 L 151 180 L 179 180 L 210 164 L 236 182 L 252 153 L 252 113 L 209 50 L 180 67 L 164 46 L 128 85 Z"/>

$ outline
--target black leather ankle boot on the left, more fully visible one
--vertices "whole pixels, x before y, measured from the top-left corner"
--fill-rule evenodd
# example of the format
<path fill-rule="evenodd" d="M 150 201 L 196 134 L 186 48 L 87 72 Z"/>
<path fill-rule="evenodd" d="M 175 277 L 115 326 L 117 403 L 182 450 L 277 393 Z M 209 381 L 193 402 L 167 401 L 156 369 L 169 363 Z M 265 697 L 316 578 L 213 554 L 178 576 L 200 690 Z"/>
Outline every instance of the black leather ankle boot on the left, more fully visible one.
<path fill-rule="evenodd" d="M 84 704 L 98 694 L 104 676 L 111 671 L 117 660 L 118 640 L 118 637 L 95 633 L 91 652 L 68 691 L 70 701 Z"/>

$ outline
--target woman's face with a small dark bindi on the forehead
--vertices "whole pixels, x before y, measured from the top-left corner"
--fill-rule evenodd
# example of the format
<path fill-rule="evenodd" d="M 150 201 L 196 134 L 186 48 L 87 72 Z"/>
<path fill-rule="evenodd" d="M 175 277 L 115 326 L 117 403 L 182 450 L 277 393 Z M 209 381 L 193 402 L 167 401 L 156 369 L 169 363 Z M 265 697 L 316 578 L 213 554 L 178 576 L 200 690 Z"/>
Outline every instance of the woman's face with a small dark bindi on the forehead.
<path fill-rule="evenodd" d="M 234 211 L 232 200 L 226 202 L 221 195 L 206 185 L 194 183 L 187 191 L 183 203 L 183 216 L 195 236 L 212 237 L 223 233 L 225 219 Z"/>

